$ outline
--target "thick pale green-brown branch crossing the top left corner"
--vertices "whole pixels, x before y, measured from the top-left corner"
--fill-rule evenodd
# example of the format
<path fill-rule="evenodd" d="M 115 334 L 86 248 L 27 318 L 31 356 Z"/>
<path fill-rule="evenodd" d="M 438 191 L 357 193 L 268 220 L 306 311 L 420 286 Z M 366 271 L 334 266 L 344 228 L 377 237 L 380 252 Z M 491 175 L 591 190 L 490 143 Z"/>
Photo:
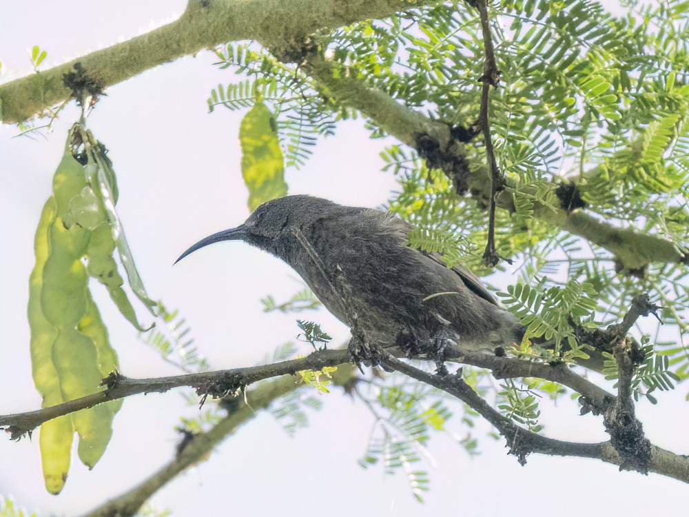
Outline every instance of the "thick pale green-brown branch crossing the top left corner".
<path fill-rule="evenodd" d="M 255 39 L 278 55 L 302 48 L 305 38 L 322 29 L 384 18 L 395 12 L 440 3 L 438 0 L 190 0 L 176 21 L 124 43 L 63 65 L 0 85 L 0 121 L 25 121 L 69 99 L 63 75 L 74 63 L 105 86 L 145 70 L 196 54 L 227 41 Z"/>

